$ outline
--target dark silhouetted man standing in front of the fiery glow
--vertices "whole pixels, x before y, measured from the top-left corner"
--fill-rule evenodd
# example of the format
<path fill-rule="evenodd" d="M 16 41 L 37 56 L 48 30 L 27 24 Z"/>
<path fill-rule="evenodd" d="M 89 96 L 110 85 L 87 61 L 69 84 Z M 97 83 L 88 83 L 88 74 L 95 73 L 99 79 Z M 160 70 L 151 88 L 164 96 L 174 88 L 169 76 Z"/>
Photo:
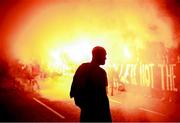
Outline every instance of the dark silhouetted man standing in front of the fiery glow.
<path fill-rule="evenodd" d="M 92 56 L 90 63 L 83 63 L 77 69 L 70 97 L 74 97 L 75 104 L 81 109 L 81 122 L 111 122 L 106 93 L 107 75 L 105 70 L 99 67 L 105 64 L 106 51 L 103 47 L 94 47 Z"/>

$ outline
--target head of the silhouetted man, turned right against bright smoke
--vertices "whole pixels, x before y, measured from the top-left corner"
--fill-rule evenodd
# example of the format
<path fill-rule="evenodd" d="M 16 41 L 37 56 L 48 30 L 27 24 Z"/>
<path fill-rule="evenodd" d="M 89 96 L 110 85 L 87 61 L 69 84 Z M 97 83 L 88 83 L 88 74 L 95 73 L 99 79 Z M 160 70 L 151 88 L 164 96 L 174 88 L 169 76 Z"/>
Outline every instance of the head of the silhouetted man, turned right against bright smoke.
<path fill-rule="evenodd" d="M 103 47 L 96 46 L 92 50 L 93 61 L 98 65 L 104 65 L 106 60 L 106 50 Z"/>

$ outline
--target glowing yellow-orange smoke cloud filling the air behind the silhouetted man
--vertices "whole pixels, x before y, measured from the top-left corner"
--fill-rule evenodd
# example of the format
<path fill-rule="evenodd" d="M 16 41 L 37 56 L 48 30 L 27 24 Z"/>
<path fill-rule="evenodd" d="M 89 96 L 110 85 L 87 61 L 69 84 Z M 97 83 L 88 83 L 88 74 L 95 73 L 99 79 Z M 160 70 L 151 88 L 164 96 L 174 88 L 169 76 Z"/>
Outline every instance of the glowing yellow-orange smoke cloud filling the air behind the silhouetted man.
<path fill-rule="evenodd" d="M 19 6 L 14 9 L 23 11 L 23 3 Z M 49 98 L 67 97 L 72 73 L 90 61 L 93 46 L 107 49 L 107 65 L 134 59 L 147 42 L 174 46 L 171 20 L 161 16 L 153 0 L 34 1 L 29 6 L 9 34 L 10 51 L 24 63 L 36 60 L 48 72 L 63 73 L 40 82 L 41 94 Z"/>

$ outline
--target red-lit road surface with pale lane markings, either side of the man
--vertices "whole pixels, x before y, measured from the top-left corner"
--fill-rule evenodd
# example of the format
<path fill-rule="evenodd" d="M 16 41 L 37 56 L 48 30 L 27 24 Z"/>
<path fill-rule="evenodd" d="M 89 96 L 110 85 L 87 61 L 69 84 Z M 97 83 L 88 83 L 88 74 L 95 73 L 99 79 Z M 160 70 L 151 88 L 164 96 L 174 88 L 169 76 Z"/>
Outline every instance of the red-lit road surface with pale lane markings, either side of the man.
<path fill-rule="evenodd" d="M 73 99 L 48 100 L 35 93 L 0 89 L 0 121 L 78 122 L 80 110 Z M 159 99 L 122 92 L 109 96 L 113 121 L 180 121 L 179 106 Z"/>

